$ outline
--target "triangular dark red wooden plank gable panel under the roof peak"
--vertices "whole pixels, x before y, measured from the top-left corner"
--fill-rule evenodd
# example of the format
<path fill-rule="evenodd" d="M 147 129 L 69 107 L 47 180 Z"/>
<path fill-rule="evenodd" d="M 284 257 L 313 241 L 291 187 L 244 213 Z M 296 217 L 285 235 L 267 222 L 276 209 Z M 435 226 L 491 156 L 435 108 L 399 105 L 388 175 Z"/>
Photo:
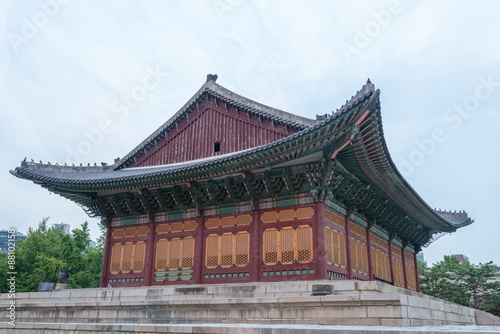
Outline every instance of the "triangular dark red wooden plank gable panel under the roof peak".
<path fill-rule="evenodd" d="M 165 165 L 241 151 L 297 131 L 210 96 L 170 130 L 167 138 L 129 167 Z"/>

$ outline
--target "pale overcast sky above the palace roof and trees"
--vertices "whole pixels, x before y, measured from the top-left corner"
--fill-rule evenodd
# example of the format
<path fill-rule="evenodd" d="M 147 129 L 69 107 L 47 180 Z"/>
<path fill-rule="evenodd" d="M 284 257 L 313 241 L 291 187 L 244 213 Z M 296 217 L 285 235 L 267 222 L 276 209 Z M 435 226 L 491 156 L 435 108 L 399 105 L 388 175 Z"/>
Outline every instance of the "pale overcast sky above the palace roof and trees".
<path fill-rule="evenodd" d="M 314 118 L 370 78 L 392 159 L 475 223 L 424 249 L 500 264 L 500 2 L 0 0 L 0 228 L 98 220 L 17 179 L 21 160 L 113 163 L 217 73 Z M 153 77 L 154 80 L 145 78 Z"/>

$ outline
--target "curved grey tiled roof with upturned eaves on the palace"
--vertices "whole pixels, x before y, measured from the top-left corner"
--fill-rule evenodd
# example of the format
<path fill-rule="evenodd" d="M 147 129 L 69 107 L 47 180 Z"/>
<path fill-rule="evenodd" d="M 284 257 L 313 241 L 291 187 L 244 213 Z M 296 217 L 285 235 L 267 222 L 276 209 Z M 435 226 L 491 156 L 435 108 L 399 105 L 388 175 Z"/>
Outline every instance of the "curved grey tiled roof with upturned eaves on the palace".
<path fill-rule="evenodd" d="M 227 96 L 230 91 L 216 85 L 215 82 L 209 80 L 202 87 L 202 90 L 211 90 L 215 92 L 223 92 L 220 96 Z M 200 90 L 201 91 L 201 90 Z M 199 97 L 200 91 L 186 104 L 193 105 Z M 229 92 L 229 93 L 228 93 Z M 233 94 L 233 93 L 231 93 Z M 383 129 L 380 117 L 380 102 L 378 90 L 375 90 L 373 84 L 368 81 L 360 91 L 356 93 L 350 100 L 331 115 L 323 118 L 321 121 L 303 121 L 300 126 L 302 130 L 288 137 L 277 140 L 275 142 L 262 146 L 246 149 L 243 151 L 218 155 L 198 160 L 191 160 L 182 163 L 175 163 L 154 167 L 136 167 L 136 168 L 117 168 L 120 162 L 112 166 L 56 166 L 48 164 L 37 164 L 33 162 L 23 161 L 21 166 L 16 168 L 11 173 L 19 178 L 32 180 L 35 183 L 42 185 L 52 185 L 68 192 L 91 192 L 101 189 L 124 189 L 123 184 L 134 187 L 147 187 L 149 185 L 175 184 L 178 180 L 189 180 L 198 177 L 204 177 L 215 170 L 222 173 L 230 174 L 242 168 L 248 168 L 250 165 L 259 165 L 260 167 L 269 167 L 264 165 L 262 157 L 272 157 L 276 152 L 285 152 L 294 143 L 302 143 L 308 147 L 313 147 L 307 154 L 312 154 L 323 150 L 330 144 L 328 138 L 332 138 L 332 133 L 329 129 L 334 128 L 334 124 L 343 124 L 347 126 L 354 124 L 356 119 L 360 119 L 362 114 L 369 112 L 369 120 L 365 126 L 365 131 L 370 131 L 370 135 L 360 133 L 356 139 L 342 150 L 337 159 L 342 163 L 347 170 L 362 182 L 372 186 L 372 189 L 380 195 L 388 198 L 403 212 L 417 217 L 418 221 L 426 226 L 434 226 L 438 230 L 451 231 L 458 227 L 472 223 L 472 220 L 465 213 L 452 214 L 451 212 L 435 211 L 430 208 L 427 203 L 413 190 L 406 182 L 395 164 L 390 158 L 385 139 L 383 138 Z M 232 96 L 232 100 L 237 100 L 237 97 Z M 249 100 L 246 100 L 247 102 Z M 181 109 L 179 113 L 185 112 L 186 107 Z M 247 105 L 250 108 L 249 105 Z M 269 111 L 256 104 L 253 107 L 261 112 L 272 114 L 273 117 L 281 115 L 282 119 L 288 113 L 279 114 L 273 109 Z M 266 111 L 267 110 L 267 111 Z M 285 116 L 283 116 L 285 115 Z M 289 116 L 286 116 L 289 117 Z M 173 117 L 175 118 L 175 116 Z M 291 121 L 292 117 L 289 117 Z M 172 119 L 169 122 L 173 122 Z M 298 121 L 297 121 L 298 122 Z M 306 123 L 309 122 L 309 125 Z M 168 128 L 166 123 L 157 132 L 164 131 Z M 298 123 L 297 123 L 298 124 Z M 350 125 L 349 125 L 350 126 Z M 163 129 L 163 130 L 162 130 Z M 345 128 L 342 131 L 351 131 Z M 352 129 L 354 131 L 354 129 Z M 339 131 L 339 130 L 338 130 Z M 359 129 L 357 130 L 359 131 Z M 353 132 L 354 133 L 354 132 Z M 145 140 L 141 145 L 144 145 L 148 140 L 151 140 L 155 134 Z M 307 143 L 307 144 L 303 144 Z M 314 145 L 311 145 L 314 143 Z M 293 145 L 292 145 L 293 144 Z M 138 147 L 140 147 L 139 145 Z M 137 150 L 137 148 L 136 148 Z M 134 152 L 134 151 L 132 151 Z M 131 153 L 132 154 L 132 153 Z M 125 159 L 125 158 L 124 158 Z M 122 159 L 122 162 L 124 160 Z M 61 191 L 61 190 L 60 190 Z"/>

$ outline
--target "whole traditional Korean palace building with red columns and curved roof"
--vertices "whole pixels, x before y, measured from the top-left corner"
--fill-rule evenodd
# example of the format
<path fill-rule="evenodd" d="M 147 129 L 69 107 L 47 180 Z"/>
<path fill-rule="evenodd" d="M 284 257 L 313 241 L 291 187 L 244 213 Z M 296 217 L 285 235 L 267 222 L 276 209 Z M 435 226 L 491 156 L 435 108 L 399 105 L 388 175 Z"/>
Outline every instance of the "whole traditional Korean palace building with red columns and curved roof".
<path fill-rule="evenodd" d="M 11 171 L 101 217 L 101 286 L 354 279 L 418 291 L 416 253 L 472 223 L 401 176 L 369 80 L 313 120 L 216 79 L 113 165 Z"/>

